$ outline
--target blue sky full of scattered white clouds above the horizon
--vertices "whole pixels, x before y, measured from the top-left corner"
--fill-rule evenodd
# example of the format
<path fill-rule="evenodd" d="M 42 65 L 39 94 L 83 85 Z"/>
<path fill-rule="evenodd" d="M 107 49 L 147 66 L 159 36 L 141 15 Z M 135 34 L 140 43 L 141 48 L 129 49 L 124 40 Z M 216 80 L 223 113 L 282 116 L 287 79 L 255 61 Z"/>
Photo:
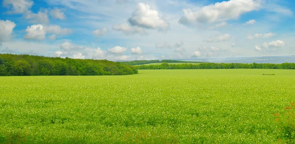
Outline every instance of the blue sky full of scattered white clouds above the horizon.
<path fill-rule="evenodd" d="M 0 53 L 109 60 L 295 55 L 295 0 L 0 1 Z"/>

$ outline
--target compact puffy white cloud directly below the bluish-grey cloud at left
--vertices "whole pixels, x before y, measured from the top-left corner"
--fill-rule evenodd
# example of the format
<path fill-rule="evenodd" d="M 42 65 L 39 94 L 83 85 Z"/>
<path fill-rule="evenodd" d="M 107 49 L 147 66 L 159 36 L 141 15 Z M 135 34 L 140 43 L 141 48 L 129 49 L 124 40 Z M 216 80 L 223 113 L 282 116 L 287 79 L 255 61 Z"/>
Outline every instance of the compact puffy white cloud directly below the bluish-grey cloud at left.
<path fill-rule="evenodd" d="M 27 35 L 25 39 L 32 39 L 32 40 L 43 40 L 45 39 L 46 31 L 42 25 L 31 25 L 28 26 Z"/>

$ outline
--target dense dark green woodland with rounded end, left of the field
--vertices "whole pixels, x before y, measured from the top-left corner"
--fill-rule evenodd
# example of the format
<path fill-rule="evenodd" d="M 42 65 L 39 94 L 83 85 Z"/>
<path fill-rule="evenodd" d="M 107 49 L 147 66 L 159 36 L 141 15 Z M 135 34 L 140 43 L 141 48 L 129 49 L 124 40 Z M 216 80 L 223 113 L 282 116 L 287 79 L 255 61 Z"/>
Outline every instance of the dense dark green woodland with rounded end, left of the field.
<path fill-rule="evenodd" d="M 0 54 L 0 76 L 130 75 L 136 67 L 109 60 Z"/>

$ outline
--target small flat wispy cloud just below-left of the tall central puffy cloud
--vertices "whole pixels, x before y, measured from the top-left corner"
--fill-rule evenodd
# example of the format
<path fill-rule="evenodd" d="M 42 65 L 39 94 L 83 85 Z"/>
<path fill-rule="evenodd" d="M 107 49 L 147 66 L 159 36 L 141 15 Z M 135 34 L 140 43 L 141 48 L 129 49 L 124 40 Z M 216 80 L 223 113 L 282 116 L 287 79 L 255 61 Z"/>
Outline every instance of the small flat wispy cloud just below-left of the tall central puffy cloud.
<path fill-rule="evenodd" d="M 143 28 L 139 28 L 137 26 L 130 26 L 130 24 L 128 23 L 123 23 L 120 25 L 116 25 L 113 28 L 114 30 L 117 31 L 122 31 L 124 32 L 126 35 L 133 35 L 133 34 L 141 34 L 141 35 L 147 35 L 147 31 Z"/>

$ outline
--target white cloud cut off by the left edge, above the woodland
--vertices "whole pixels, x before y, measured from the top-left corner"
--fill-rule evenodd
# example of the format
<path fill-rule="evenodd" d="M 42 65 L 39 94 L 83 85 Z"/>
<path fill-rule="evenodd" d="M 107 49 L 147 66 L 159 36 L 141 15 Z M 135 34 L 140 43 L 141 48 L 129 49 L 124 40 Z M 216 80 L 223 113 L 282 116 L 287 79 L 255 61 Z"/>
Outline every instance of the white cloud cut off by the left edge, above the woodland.
<path fill-rule="evenodd" d="M 15 23 L 9 20 L 0 20 L 0 42 L 9 41 L 15 28 Z"/>

